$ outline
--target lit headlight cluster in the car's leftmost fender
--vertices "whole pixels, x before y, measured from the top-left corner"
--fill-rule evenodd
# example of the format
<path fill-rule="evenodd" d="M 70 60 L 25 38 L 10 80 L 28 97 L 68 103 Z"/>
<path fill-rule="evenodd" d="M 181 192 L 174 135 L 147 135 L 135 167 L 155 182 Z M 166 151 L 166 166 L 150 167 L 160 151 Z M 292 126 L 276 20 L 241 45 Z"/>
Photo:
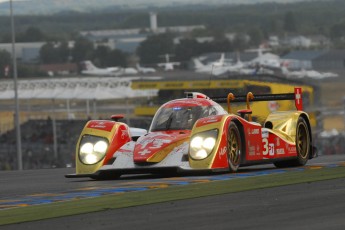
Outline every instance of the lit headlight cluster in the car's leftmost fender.
<path fill-rule="evenodd" d="M 108 149 L 108 141 L 102 137 L 85 135 L 79 145 L 79 159 L 87 165 L 101 161 Z"/>

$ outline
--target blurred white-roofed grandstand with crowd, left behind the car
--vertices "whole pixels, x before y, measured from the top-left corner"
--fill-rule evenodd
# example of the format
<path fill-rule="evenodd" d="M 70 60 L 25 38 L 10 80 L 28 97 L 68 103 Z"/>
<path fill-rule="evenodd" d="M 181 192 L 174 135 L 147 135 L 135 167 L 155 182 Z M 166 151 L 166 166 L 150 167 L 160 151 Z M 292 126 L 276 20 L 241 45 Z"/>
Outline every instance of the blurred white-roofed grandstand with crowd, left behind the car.
<path fill-rule="evenodd" d="M 131 82 L 139 78 L 80 77 L 18 81 L 24 169 L 70 166 L 74 163 L 75 143 L 87 119 L 110 118 L 113 113 L 118 113 L 119 108 L 119 111 L 126 111 L 127 123 L 148 128 L 150 119 L 133 119 L 128 109 L 131 103 L 128 100 L 150 97 L 157 92 L 133 90 Z M 13 81 L 0 81 L 0 170 L 16 169 L 13 89 Z M 89 102 L 94 110 L 97 110 L 98 104 L 100 112 L 91 114 Z M 79 107 L 73 108 L 73 104 Z M 84 108 L 85 104 L 87 108 Z M 57 150 L 54 150 L 52 119 L 56 125 Z"/>

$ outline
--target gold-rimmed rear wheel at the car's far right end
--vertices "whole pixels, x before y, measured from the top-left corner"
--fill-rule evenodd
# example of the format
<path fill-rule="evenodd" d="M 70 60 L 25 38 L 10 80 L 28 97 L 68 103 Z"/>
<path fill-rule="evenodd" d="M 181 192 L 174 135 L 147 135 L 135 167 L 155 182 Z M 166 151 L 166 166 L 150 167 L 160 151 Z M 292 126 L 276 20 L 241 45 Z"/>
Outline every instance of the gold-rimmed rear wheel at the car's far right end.
<path fill-rule="evenodd" d="M 275 162 L 276 167 L 303 166 L 307 163 L 310 154 L 310 132 L 307 122 L 303 117 L 299 117 L 296 125 L 296 150 L 297 158 L 290 161 Z"/>

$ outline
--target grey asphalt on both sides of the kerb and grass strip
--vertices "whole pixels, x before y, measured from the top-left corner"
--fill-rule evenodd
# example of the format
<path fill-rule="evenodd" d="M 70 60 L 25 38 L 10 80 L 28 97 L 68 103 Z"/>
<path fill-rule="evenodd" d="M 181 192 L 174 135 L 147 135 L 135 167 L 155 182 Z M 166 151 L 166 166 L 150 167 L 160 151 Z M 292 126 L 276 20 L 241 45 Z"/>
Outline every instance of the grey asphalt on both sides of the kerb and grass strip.
<path fill-rule="evenodd" d="M 309 165 L 344 161 L 345 155 L 321 156 L 309 161 Z M 253 168 L 241 171 L 247 170 Z M 270 165 L 254 169 L 267 170 L 275 169 Z M 63 177 L 72 172 L 73 169 L 0 172 L 0 199 L 166 179 L 131 176 L 93 181 Z M 337 179 L 0 226 L 0 229 L 344 229 L 344 210 L 345 179 Z"/>

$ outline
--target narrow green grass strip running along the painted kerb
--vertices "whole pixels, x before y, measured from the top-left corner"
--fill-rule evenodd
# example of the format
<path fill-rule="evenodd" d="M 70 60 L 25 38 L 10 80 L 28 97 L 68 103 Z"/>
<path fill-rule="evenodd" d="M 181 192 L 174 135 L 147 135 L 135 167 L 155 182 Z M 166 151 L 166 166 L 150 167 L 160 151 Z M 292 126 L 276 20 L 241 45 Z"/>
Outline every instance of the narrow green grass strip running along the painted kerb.
<path fill-rule="evenodd" d="M 267 176 L 186 186 L 178 185 L 142 192 L 56 202 L 1 210 L 0 225 L 337 178 L 345 178 L 345 167 L 306 169 Z"/>

